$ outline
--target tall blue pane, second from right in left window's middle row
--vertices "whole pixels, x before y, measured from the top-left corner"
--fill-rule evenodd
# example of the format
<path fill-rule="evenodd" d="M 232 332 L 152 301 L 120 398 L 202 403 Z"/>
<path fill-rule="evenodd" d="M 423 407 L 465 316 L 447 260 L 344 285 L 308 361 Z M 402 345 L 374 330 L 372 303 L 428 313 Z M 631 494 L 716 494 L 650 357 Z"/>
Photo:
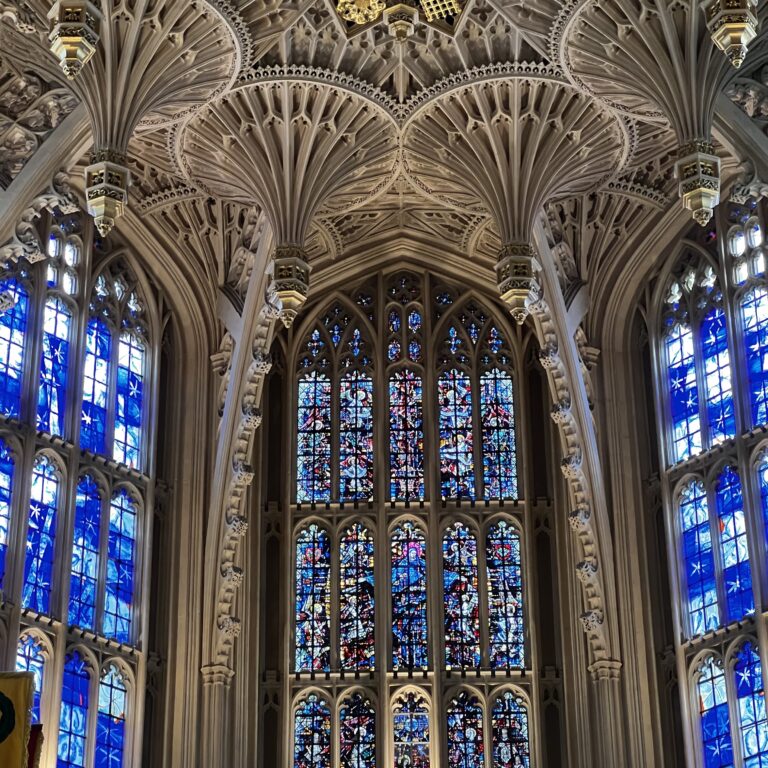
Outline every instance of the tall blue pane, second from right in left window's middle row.
<path fill-rule="evenodd" d="M 99 577 L 101 494 L 96 481 L 83 475 L 75 496 L 75 528 L 69 586 L 69 623 L 94 630 Z"/>

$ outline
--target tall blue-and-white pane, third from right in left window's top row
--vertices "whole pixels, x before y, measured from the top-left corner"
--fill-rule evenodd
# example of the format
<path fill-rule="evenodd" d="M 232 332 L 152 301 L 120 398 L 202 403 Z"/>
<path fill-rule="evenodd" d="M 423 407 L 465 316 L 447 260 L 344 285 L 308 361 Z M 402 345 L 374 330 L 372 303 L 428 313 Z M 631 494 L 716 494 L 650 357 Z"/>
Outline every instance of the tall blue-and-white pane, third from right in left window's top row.
<path fill-rule="evenodd" d="M 37 390 L 37 428 L 52 435 L 64 434 L 69 371 L 69 331 L 72 314 L 56 296 L 45 302 Z"/>

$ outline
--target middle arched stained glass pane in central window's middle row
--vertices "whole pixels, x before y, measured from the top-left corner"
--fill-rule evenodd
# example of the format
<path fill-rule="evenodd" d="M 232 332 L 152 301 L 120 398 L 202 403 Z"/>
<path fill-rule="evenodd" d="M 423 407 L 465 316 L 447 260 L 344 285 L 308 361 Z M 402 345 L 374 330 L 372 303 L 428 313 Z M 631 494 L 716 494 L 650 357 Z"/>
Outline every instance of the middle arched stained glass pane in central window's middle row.
<path fill-rule="evenodd" d="M 392 534 L 392 666 L 427 665 L 426 540 L 408 521 Z"/>

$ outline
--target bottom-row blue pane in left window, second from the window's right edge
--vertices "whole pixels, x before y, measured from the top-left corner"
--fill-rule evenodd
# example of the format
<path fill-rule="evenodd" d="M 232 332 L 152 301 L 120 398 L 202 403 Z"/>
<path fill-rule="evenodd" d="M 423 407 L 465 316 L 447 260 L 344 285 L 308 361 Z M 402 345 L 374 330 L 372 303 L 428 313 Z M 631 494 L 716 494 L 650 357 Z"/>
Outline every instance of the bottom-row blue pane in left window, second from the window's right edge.
<path fill-rule="evenodd" d="M 57 768 L 85 768 L 91 675 L 83 657 L 67 654 L 61 690 Z"/>

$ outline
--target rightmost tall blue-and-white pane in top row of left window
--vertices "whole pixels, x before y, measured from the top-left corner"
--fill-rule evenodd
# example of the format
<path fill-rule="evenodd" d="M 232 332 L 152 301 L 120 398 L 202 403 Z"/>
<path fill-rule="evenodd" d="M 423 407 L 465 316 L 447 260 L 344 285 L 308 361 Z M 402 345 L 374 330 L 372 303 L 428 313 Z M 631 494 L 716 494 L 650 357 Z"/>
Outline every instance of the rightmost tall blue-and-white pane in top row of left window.
<path fill-rule="evenodd" d="M 141 464 L 144 355 L 144 345 L 134 334 L 120 334 L 113 458 L 132 468 L 139 468 Z"/>

